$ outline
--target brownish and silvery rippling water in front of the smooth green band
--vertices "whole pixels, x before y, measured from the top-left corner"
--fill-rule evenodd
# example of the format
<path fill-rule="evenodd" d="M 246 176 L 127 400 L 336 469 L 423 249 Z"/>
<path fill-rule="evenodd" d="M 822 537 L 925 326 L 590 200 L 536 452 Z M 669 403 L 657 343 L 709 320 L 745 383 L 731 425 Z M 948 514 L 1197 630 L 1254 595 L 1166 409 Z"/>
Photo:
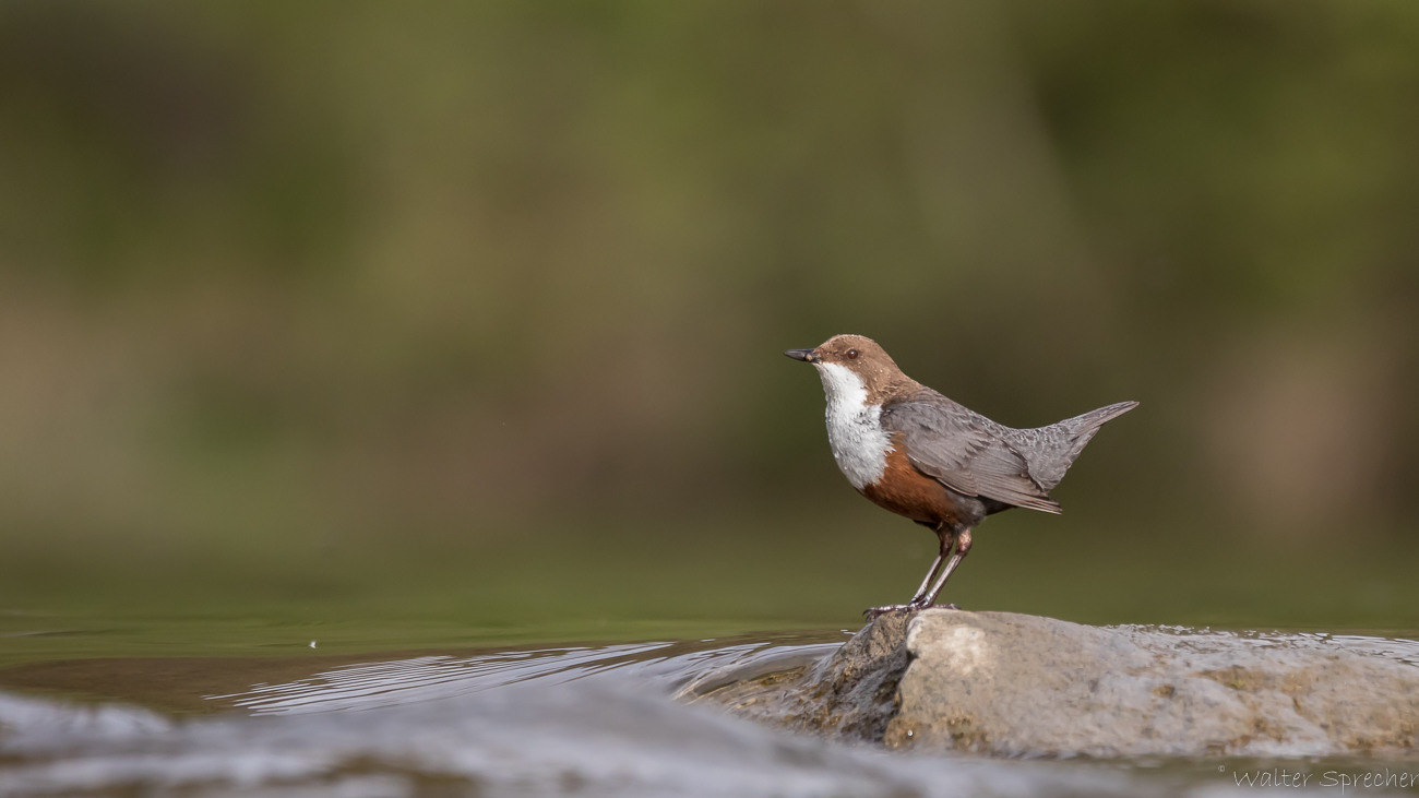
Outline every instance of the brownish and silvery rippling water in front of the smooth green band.
<path fill-rule="evenodd" d="M 1175 632 L 1202 647 L 1213 639 Z M 1213 797 L 1254 795 L 1236 781 L 1261 768 L 1304 770 L 1313 791 L 1338 794 L 1321 787 L 1321 774 L 1406 767 L 898 754 L 793 737 L 674 700 L 826 656 L 846 636 L 30 663 L 0 670 L 9 686 L 0 689 L 0 797 Z M 1242 636 L 1419 663 L 1419 643 L 1406 639 Z M 47 693 L 17 690 L 26 679 Z M 241 689 L 200 692 L 223 683 Z M 182 693 L 148 703 L 186 709 L 54 696 L 85 684 L 155 699 Z M 1419 764 L 1408 768 L 1419 774 Z"/>

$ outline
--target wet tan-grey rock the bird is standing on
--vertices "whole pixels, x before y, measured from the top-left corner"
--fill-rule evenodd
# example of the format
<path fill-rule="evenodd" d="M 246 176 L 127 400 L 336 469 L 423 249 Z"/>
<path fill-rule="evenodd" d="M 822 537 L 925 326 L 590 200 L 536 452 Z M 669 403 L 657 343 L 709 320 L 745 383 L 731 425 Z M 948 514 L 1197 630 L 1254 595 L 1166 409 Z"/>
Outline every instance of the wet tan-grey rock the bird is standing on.
<path fill-rule="evenodd" d="M 1416 751 L 1419 667 L 1324 636 L 884 615 L 815 665 L 687 689 L 776 726 L 996 755 Z"/>

